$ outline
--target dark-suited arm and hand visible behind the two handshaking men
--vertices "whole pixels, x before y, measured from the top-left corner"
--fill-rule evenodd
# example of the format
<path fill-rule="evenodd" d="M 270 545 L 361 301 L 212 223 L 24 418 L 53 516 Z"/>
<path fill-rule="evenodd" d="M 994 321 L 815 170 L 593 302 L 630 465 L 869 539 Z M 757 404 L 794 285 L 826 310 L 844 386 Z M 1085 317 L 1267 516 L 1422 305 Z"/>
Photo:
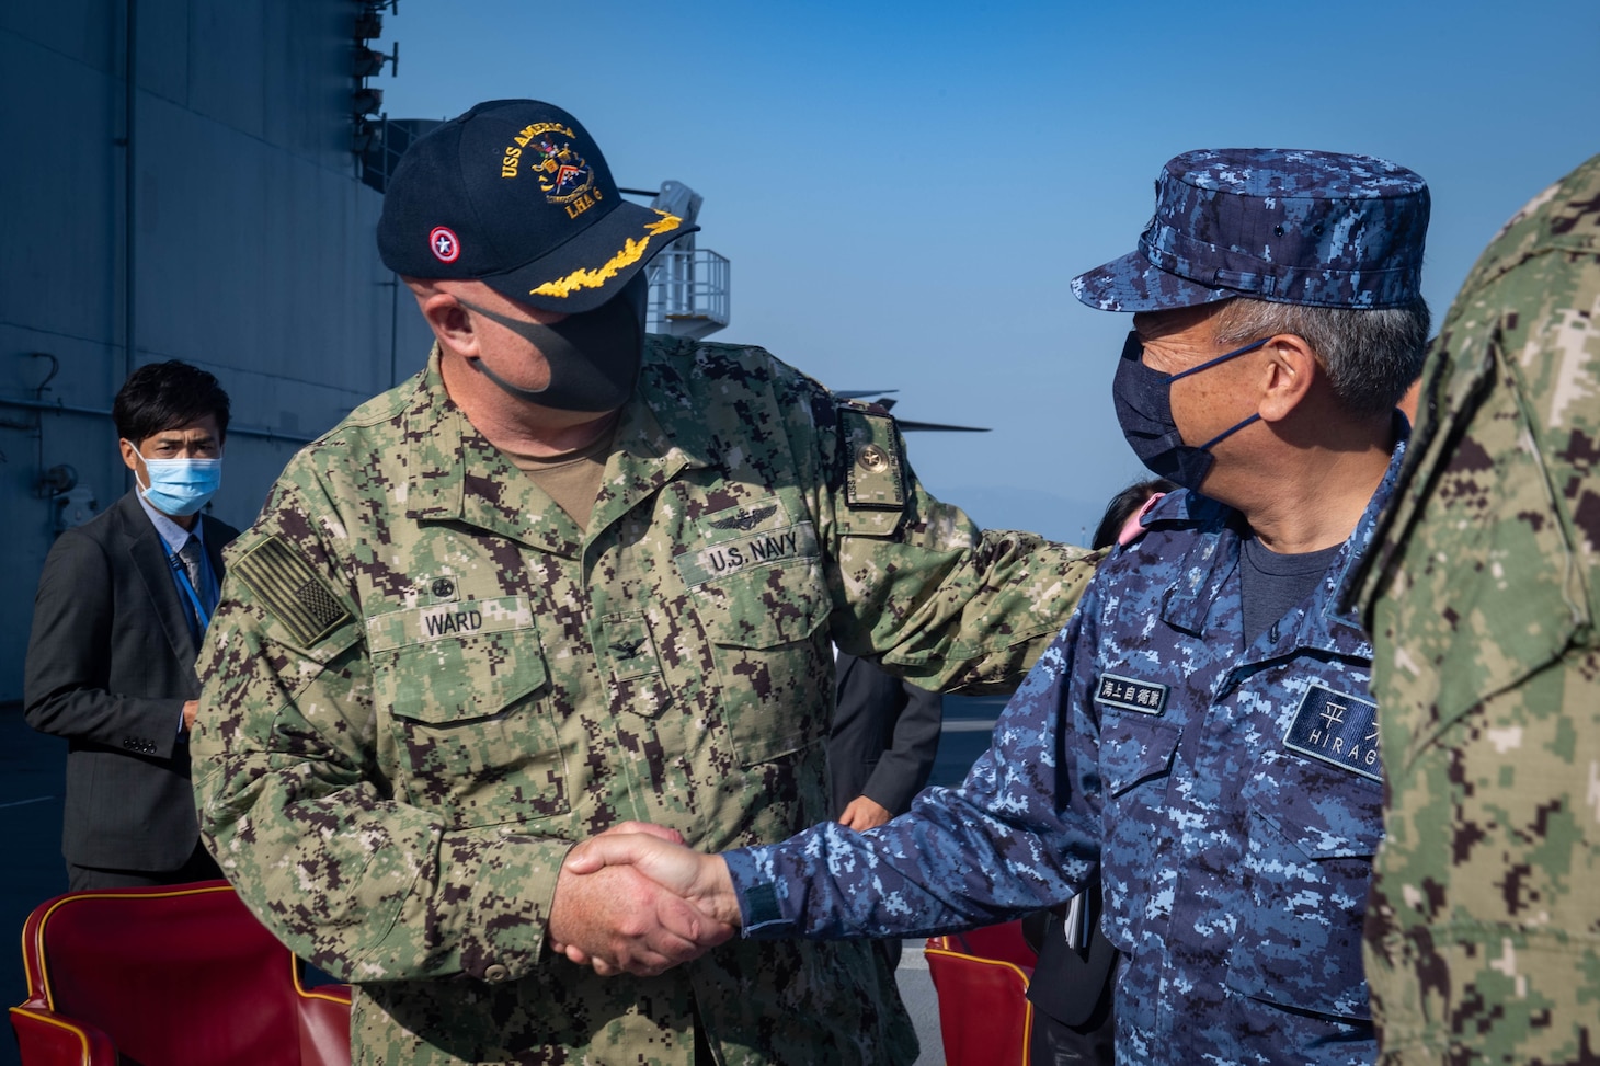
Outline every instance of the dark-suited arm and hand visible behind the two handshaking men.
<path fill-rule="evenodd" d="M 827 768 L 834 816 L 862 831 L 910 810 L 939 747 L 944 698 L 853 655 L 835 663 Z"/>

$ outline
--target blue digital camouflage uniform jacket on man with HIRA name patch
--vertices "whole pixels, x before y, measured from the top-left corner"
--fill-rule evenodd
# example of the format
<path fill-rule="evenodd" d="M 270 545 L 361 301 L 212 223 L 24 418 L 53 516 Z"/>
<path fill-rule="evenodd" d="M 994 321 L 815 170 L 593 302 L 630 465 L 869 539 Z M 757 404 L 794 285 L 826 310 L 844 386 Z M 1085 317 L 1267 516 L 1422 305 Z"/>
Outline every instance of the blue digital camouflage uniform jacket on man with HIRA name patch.
<path fill-rule="evenodd" d="M 1237 512 L 1179 491 L 1115 549 L 958 789 L 867 834 L 726 855 L 754 936 L 922 935 L 1075 892 L 1126 957 L 1120 1063 L 1370 1063 L 1362 911 L 1382 836 L 1371 647 L 1322 586 L 1248 648 Z"/>

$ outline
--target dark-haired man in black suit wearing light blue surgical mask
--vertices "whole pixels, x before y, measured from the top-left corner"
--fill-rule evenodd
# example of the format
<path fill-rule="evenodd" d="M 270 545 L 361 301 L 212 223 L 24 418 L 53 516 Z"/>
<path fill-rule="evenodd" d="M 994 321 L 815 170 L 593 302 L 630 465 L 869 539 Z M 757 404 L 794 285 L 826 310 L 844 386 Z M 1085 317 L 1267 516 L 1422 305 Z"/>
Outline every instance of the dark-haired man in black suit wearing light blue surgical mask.
<path fill-rule="evenodd" d="M 181 362 L 141 367 L 117 392 L 122 459 L 136 487 L 66 530 L 38 579 L 24 701 L 67 739 L 61 850 L 69 887 L 221 877 L 189 789 L 200 639 L 238 535 L 202 515 L 221 480 L 229 400 Z"/>

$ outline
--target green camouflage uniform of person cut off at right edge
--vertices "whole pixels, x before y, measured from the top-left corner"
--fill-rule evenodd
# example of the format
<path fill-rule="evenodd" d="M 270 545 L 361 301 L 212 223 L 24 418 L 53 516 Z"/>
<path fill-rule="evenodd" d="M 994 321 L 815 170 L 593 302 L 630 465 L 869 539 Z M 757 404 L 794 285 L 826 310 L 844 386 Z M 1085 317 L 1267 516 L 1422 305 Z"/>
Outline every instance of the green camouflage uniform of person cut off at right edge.
<path fill-rule="evenodd" d="M 1363 586 L 1389 1066 L 1600 1061 L 1600 157 L 1456 298 Z"/>

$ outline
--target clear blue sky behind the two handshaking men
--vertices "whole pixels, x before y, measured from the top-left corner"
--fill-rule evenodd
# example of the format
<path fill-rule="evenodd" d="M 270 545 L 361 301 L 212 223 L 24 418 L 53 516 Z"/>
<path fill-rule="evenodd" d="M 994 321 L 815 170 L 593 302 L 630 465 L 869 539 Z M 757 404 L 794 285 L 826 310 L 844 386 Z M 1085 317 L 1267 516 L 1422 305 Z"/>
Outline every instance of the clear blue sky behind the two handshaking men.
<path fill-rule="evenodd" d="M 1314 147 L 1421 173 L 1435 327 L 1499 224 L 1600 150 L 1594 0 L 405 0 L 394 118 L 533 96 L 619 184 L 683 181 L 733 322 L 835 389 L 898 389 L 923 482 L 1082 539 L 1142 474 L 1110 410 L 1128 315 L 1069 279 L 1133 248 L 1162 163 Z"/>

